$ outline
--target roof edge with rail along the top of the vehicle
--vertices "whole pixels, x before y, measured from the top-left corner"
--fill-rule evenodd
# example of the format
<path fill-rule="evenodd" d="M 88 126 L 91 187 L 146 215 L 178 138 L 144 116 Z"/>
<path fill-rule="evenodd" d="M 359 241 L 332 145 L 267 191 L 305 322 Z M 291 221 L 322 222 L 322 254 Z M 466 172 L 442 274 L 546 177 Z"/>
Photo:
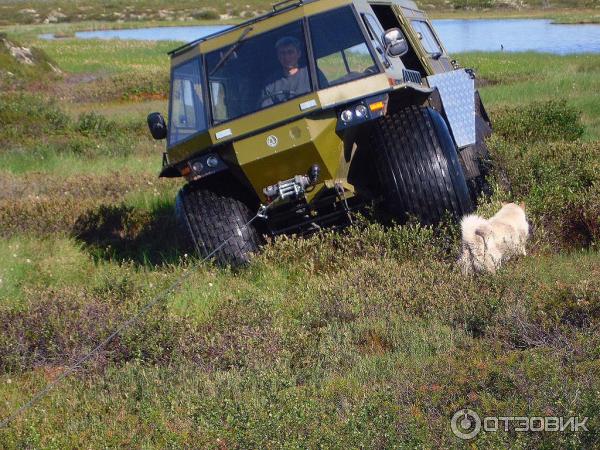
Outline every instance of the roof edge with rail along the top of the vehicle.
<path fill-rule="evenodd" d="M 194 41 L 188 42 L 187 44 L 184 44 L 180 47 L 177 47 L 177 48 L 171 50 L 169 52 L 169 55 L 171 55 L 171 57 L 175 57 L 197 44 L 200 44 L 200 43 L 206 42 L 206 41 L 210 41 L 212 39 L 216 39 L 221 36 L 225 36 L 229 33 L 235 32 L 236 30 L 246 28 L 246 27 L 256 24 L 258 22 L 263 22 L 265 20 L 274 18 L 276 16 L 280 16 L 280 15 L 289 13 L 290 11 L 295 10 L 299 7 L 302 7 L 304 5 L 318 3 L 319 9 L 322 9 L 323 11 L 327 11 L 328 9 L 333 9 L 333 8 L 339 7 L 343 4 L 362 3 L 364 1 L 365 0 L 284 0 L 279 3 L 275 3 L 273 5 L 273 11 L 270 11 L 261 16 L 254 17 L 250 20 L 246 20 L 237 25 L 233 25 L 225 30 L 221 30 L 216 33 L 212 33 L 207 36 L 196 39 Z M 373 0 L 373 1 L 366 0 L 366 1 L 368 3 L 373 3 L 373 4 L 397 4 L 404 8 L 418 9 L 416 3 L 412 0 Z"/>

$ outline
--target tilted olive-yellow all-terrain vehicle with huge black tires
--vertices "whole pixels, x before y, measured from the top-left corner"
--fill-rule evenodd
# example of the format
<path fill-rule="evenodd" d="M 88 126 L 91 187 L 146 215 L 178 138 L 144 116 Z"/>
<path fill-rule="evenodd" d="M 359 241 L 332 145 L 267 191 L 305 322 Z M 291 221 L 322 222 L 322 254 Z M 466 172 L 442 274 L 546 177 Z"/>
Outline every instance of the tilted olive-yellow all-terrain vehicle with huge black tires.
<path fill-rule="evenodd" d="M 262 233 L 305 233 L 379 202 L 398 221 L 473 209 L 491 124 L 472 71 L 411 0 L 281 2 L 170 52 L 162 177 L 184 177 L 184 233 L 247 261 Z M 262 223 L 243 225 L 260 205 Z"/>

